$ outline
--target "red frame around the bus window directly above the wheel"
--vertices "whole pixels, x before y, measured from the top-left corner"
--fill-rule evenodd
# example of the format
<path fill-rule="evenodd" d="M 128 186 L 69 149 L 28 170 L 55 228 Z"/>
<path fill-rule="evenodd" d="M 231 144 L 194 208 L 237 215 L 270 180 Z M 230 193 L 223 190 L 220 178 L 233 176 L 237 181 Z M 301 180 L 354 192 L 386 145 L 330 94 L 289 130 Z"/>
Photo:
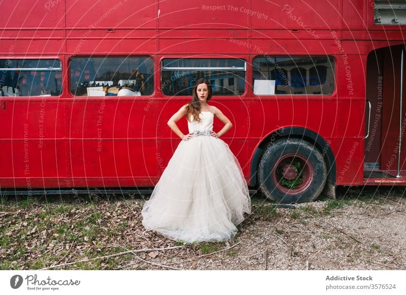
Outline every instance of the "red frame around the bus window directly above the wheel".
<path fill-rule="evenodd" d="M 333 89 L 333 92 L 331 92 L 331 94 L 306 94 L 306 93 L 303 93 L 303 94 L 254 94 L 254 59 L 255 58 L 257 58 L 257 57 L 265 57 L 264 55 L 252 55 L 252 59 L 251 59 L 251 73 L 252 73 L 252 75 L 251 75 L 251 81 L 252 81 L 252 83 L 251 83 L 251 91 L 252 91 L 252 95 L 253 96 L 255 96 L 255 97 L 275 97 L 275 96 L 278 96 L 279 98 L 283 98 L 283 97 L 309 97 L 309 96 L 311 96 L 311 97 L 334 97 L 334 96 L 336 96 L 336 93 L 337 93 L 337 83 L 338 83 L 338 81 L 337 81 L 337 58 L 335 57 L 335 55 L 319 55 L 319 54 L 316 54 L 316 55 L 311 55 L 311 56 L 309 56 L 309 55 L 302 55 L 302 54 L 298 54 L 298 55 L 280 55 L 280 54 L 275 54 L 275 55 L 272 55 L 272 54 L 268 54 L 268 56 L 270 56 L 270 57 L 290 57 L 290 58 L 294 58 L 294 57 L 311 57 L 311 58 L 314 58 L 314 57 L 328 57 L 329 59 L 332 59 L 333 60 L 333 62 L 334 62 L 334 70 L 333 70 L 333 75 L 334 75 L 334 89 Z"/>

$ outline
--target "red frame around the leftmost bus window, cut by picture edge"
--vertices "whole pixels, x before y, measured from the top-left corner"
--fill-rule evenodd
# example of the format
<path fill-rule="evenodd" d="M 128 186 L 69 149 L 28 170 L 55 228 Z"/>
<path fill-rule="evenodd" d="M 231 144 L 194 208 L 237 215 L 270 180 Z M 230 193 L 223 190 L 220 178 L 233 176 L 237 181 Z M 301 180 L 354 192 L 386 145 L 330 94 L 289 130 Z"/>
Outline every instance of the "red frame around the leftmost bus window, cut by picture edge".
<path fill-rule="evenodd" d="M 18 99 L 19 101 L 21 101 L 21 99 L 56 99 L 56 98 L 61 98 L 63 97 L 63 95 L 65 94 L 65 86 L 64 85 L 64 57 L 61 55 L 55 56 L 55 55 L 41 55 L 41 56 L 34 56 L 34 55 L 30 55 L 30 56 L 21 56 L 21 55 L 0 55 L 0 59 L 8 59 L 8 60 L 12 60 L 12 59 L 57 59 L 60 62 L 60 73 L 61 73 L 61 82 L 62 82 L 62 91 L 60 92 L 59 95 L 51 95 L 51 96 L 45 96 L 45 95 L 35 95 L 35 96 L 29 96 L 29 95 L 24 95 L 24 96 L 1 96 L 1 99 Z M 0 71 L 2 71 L 2 69 L 0 68 Z"/>

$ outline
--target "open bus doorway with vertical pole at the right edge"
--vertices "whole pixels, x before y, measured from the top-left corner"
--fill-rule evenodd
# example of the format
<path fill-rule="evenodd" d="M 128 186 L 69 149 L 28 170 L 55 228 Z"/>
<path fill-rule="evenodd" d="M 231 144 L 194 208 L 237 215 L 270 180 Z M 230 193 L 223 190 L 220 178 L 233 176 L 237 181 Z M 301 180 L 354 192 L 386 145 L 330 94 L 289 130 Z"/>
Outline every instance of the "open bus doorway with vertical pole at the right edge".
<path fill-rule="evenodd" d="M 405 60 L 404 46 L 381 48 L 368 55 L 365 178 L 406 177 Z"/>

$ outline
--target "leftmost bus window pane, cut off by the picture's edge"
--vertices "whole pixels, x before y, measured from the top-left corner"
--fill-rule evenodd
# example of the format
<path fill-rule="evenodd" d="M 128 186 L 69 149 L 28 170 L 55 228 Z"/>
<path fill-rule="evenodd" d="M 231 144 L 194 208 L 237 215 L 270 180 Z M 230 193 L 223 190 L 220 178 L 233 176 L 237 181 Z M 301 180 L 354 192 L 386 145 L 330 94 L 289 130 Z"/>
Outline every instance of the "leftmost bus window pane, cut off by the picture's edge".
<path fill-rule="evenodd" d="M 0 59 L 0 96 L 59 96 L 62 65 L 58 59 Z"/>

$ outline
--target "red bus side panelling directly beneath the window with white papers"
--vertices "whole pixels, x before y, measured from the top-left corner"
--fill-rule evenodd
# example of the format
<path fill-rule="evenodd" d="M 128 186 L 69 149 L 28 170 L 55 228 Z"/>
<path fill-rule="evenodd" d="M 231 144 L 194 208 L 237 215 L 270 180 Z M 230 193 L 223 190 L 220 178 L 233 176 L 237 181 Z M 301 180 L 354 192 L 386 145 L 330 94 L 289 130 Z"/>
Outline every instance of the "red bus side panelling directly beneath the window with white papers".
<path fill-rule="evenodd" d="M 118 186 L 118 178 L 156 177 L 155 105 L 143 112 L 146 103 L 128 98 L 69 102 L 72 178 L 113 177 L 112 185 Z"/>

